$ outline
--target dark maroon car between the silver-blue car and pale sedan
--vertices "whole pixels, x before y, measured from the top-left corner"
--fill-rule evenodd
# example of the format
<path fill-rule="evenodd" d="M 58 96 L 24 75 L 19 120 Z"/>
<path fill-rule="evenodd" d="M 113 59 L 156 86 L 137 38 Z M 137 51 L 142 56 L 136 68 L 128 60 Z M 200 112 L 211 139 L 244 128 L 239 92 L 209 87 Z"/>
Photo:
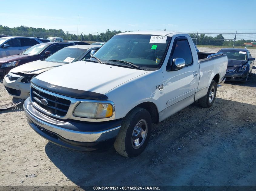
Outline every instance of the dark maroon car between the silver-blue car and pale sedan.
<path fill-rule="evenodd" d="M 75 44 L 69 42 L 41 43 L 31 46 L 20 54 L 0 58 L 0 77 L 8 74 L 12 68 L 35 60 L 45 59 L 58 50 L 72 45 Z"/>

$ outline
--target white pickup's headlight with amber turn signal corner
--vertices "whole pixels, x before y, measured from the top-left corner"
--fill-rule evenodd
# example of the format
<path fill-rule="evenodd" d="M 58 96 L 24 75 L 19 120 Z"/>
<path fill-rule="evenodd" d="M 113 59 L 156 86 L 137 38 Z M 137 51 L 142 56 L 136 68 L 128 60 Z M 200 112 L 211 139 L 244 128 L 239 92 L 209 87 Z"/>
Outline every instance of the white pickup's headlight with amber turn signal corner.
<path fill-rule="evenodd" d="M 81 102 L 73 114 L 77 117 L 108 118 L 113 115 L 113 105 L 111 103 Z"/>

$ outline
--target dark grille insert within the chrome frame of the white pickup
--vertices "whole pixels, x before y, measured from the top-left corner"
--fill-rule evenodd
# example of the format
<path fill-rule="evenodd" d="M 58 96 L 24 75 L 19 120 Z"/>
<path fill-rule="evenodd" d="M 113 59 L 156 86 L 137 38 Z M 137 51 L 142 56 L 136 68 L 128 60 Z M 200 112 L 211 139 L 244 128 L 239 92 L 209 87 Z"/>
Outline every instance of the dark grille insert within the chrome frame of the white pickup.
<path fill-rule="evenodd" d="M 36 104 L 39 108 L 42 108 L 43 110 L 46 110 L 47 113 L 60 117 L 64 117 L 67 114 L 68 108 L 71 103 L 70 100 L 46 94 L 45 92 L 39 91 L 38 89 L 33 87 L 31 87 L 30 95 L 33 104 Z M 41 99 L 47 100 L 48 104 L 42 104 Z"/>

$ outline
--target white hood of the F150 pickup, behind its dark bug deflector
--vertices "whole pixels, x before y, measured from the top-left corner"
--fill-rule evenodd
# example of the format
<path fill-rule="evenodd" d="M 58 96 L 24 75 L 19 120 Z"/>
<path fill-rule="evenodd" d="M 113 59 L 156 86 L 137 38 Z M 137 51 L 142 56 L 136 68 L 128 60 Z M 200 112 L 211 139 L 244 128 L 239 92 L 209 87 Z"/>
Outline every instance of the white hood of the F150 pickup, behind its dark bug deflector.
<path fill-rule="evenodd" d="M 78 61 L 44 72 L 36 78 L 65 88 L 106 94 L 118 85 L 147 72 L 149 71 Z"/>

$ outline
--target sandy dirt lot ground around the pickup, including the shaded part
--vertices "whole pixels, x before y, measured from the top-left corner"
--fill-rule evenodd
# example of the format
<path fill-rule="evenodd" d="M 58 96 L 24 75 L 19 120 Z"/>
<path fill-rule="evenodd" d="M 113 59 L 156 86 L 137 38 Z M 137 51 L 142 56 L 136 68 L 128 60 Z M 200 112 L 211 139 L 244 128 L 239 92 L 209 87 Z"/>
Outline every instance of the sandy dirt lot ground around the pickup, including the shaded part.
<path fill-rule="evenodd" d="M 0 105 L 12 97 L 0 82 Z M 27 124 L 22 106 L 0 112 L 0 185 L 256 185 L 256 69 L 225 83 L 211 108 L 191 106 L 154 125 L 146 150 L 80 153 Z M 36 177 L 29 177 L 35 174 Z M 27 176 L 28 175 L 28 176 Z"/>

